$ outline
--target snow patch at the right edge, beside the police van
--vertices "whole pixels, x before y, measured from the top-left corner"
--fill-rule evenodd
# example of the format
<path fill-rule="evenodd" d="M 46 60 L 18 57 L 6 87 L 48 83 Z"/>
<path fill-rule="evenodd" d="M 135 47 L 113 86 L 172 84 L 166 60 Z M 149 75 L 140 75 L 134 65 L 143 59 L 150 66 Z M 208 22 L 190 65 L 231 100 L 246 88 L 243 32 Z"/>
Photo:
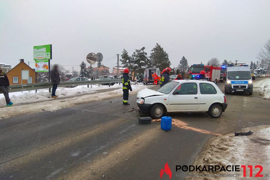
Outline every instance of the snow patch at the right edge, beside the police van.
<path fill-rule="evenodd" d="M 264 98 L 270 98 L 270 78 L 264 78 L 260 81 L 255 81 L 253 84 L 254 91 L 258 91 Z"/>

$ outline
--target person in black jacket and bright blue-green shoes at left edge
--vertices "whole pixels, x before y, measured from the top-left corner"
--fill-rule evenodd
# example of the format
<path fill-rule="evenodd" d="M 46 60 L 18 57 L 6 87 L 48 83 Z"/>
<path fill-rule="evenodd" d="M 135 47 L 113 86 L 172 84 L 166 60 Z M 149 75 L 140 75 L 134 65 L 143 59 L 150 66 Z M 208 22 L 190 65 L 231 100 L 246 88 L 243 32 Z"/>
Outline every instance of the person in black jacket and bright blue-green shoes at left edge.
<path fill-rule="evenodd" d="M 5 96 L 6 100 L 6 106 L 12 106 L 13 103 L 9 99 L 8 95 L 8 89 L 9 89 L 9 80 L 5 72 L 2 71 L 0 67 L 0 90 Z"/>

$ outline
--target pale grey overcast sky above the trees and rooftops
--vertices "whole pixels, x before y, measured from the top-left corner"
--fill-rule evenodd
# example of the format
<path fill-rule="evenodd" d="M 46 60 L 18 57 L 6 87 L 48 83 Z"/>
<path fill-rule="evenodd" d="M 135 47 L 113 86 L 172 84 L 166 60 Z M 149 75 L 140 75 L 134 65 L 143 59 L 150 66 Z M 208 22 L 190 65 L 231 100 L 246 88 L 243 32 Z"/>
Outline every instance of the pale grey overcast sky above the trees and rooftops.
<path fill-rule="evenodd" d="M 33 46 L 52 44 L 52 63 L 79 69 L 88 53 L 102 53 L 116 65 L 159 43 L 171 67 L 185 56 L 189 65 L 212 57 L 257 61 L 270 38 L 270 1 L 258 0 L 0 0 L 0 62 L 14 67 L 23 58 L 34 67 Z M 95 64 L 97 66 L 97 64 Z"/>

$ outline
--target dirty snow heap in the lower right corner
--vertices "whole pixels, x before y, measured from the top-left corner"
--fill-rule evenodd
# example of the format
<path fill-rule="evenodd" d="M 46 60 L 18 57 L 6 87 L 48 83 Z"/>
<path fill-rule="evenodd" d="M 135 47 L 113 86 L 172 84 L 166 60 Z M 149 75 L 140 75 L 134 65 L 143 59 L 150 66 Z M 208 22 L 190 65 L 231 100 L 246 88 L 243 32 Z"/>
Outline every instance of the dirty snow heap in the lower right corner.
<path fill-rule="evenodd" d="M 249 177 L 250 171 L 247 168 L 247 177 L 243 177 L 243 168 L 240 172 L 216 172 L 214 174 L 239 174 L 240 177 L 204 177 L 201 179 L 256 179 L 254 176 L 259 171 L 259 168 L 254 168 L 256 165 L 263 167 L 262 173 L 270 174 L 270 127 L 259 126 L 255 128 L 246 128 L 243 131 L 251 130 L 254 132 L 249 136 L 234 136 L 234 133 L 224 136 L 218 136 L 211 143 L 208 143 L 200 155 L 195 159 L 195 165 L 219 165 L 226 167 L 227 165 L 252 165 L 253 177 Z M 201 172 L 196 174 L 213 174 L 209 172 Z M 198 179 L 198 177 L 189 177 L 188 180 Z M 269 177 L 260 177 L 257 179 L 269 179 Z"/>

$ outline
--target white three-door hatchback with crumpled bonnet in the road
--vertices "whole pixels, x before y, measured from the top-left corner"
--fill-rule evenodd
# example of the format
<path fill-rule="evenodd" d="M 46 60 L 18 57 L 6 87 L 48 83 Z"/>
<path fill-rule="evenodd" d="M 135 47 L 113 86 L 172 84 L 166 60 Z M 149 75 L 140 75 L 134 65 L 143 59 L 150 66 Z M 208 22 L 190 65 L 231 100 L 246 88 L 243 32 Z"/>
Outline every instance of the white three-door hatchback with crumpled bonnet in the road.
<path fill-rule="evenodd" d="M 137 94 L 139 111 L 161 118 L 166 112 L 208 112 L 218 118 L 227 108 L 226 98 L 213 82 L 171 81 L 157 91 L 143 89 Z"/>

